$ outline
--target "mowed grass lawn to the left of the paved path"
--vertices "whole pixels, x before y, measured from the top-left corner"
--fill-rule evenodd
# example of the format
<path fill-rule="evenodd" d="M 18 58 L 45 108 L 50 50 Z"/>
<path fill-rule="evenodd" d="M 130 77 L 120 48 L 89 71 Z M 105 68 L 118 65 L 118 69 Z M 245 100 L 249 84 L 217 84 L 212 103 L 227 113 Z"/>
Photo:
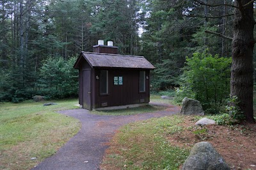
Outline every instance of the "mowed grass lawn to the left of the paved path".
<path fill-rule="evenodd" d="M 77 99 L 52 102 L 58 105 L 31 100 L 0 104 L 0 169 L 31 169 L 77 134 L 79 121 L 56 113 L 77 108 Z"/>

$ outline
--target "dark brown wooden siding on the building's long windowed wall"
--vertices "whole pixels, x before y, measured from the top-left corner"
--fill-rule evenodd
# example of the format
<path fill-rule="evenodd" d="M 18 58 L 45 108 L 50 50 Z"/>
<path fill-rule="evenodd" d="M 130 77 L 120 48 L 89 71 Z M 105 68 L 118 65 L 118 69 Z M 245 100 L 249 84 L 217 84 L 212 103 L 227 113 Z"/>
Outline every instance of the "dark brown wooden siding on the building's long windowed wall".
<path fill-rule="evenodd" d="M 94 69 L 93 69 L 94 70 Z M 102 69 L 104 70 L 104 69 Z M 149 102 L 149 79 L 146 79 L 146 91 L 139 92 L 139 72 L 140 70 L 109 70 L 108 95 L 100 95 L 99 81 L 95 80 L 95 76 L 99 75 L 100 69 L 95 69 L 93 76 L 93 98 L 92 107 L 99 108 L 104 106 L 118 106 L 129 104 L 141 104 Z M 149 77 L 149 70 L 145 70 L 146 77 Z M 123 77 L 122 85 L 114 85 L 114 77 Z M 107 105 L 106 105 L 107 103 Z"/>

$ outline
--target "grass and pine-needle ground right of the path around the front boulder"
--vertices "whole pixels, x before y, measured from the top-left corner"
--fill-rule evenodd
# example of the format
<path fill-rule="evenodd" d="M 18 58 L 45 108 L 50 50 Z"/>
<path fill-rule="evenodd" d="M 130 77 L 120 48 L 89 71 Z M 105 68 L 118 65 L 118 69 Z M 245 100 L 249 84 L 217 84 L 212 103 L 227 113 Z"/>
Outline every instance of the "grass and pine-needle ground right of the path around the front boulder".
<path fill-rule="evenodd" d="M 101 169 L 179 169 L 195 143 L 208 141 L 231 169 L 256 169 L 254 125 L 196 126 L 193 116 L 167 116 L 120 128 Z"/>

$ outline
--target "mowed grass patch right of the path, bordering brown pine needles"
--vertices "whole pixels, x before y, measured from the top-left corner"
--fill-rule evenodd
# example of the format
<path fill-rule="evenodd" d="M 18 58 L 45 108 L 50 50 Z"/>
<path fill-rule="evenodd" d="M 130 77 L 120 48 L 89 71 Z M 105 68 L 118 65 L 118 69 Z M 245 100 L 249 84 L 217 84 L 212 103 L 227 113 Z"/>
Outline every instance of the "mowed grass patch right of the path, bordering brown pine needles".
<path fill-rule="evenodd" d="M 120 128 L 111 141 L 102 169 L 179 169 L 189 151 L 167 141 L 183 127 L 182 116 L 152 118 Z"/>

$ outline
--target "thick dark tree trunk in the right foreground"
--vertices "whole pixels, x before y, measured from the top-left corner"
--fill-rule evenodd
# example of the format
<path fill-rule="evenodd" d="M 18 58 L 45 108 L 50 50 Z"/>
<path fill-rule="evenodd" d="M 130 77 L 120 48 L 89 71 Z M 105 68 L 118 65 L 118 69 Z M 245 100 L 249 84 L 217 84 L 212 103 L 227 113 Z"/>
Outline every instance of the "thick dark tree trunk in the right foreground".
<path fill-rule="evenodd" d="M 250 0 L 237 0 L 234 11 L 234 40 L 232 41 L 232 67 L 230 95 L 239 98 L 239 107 L 246 121 L 253 118 L 253 3 L 243 7 Z"/>

